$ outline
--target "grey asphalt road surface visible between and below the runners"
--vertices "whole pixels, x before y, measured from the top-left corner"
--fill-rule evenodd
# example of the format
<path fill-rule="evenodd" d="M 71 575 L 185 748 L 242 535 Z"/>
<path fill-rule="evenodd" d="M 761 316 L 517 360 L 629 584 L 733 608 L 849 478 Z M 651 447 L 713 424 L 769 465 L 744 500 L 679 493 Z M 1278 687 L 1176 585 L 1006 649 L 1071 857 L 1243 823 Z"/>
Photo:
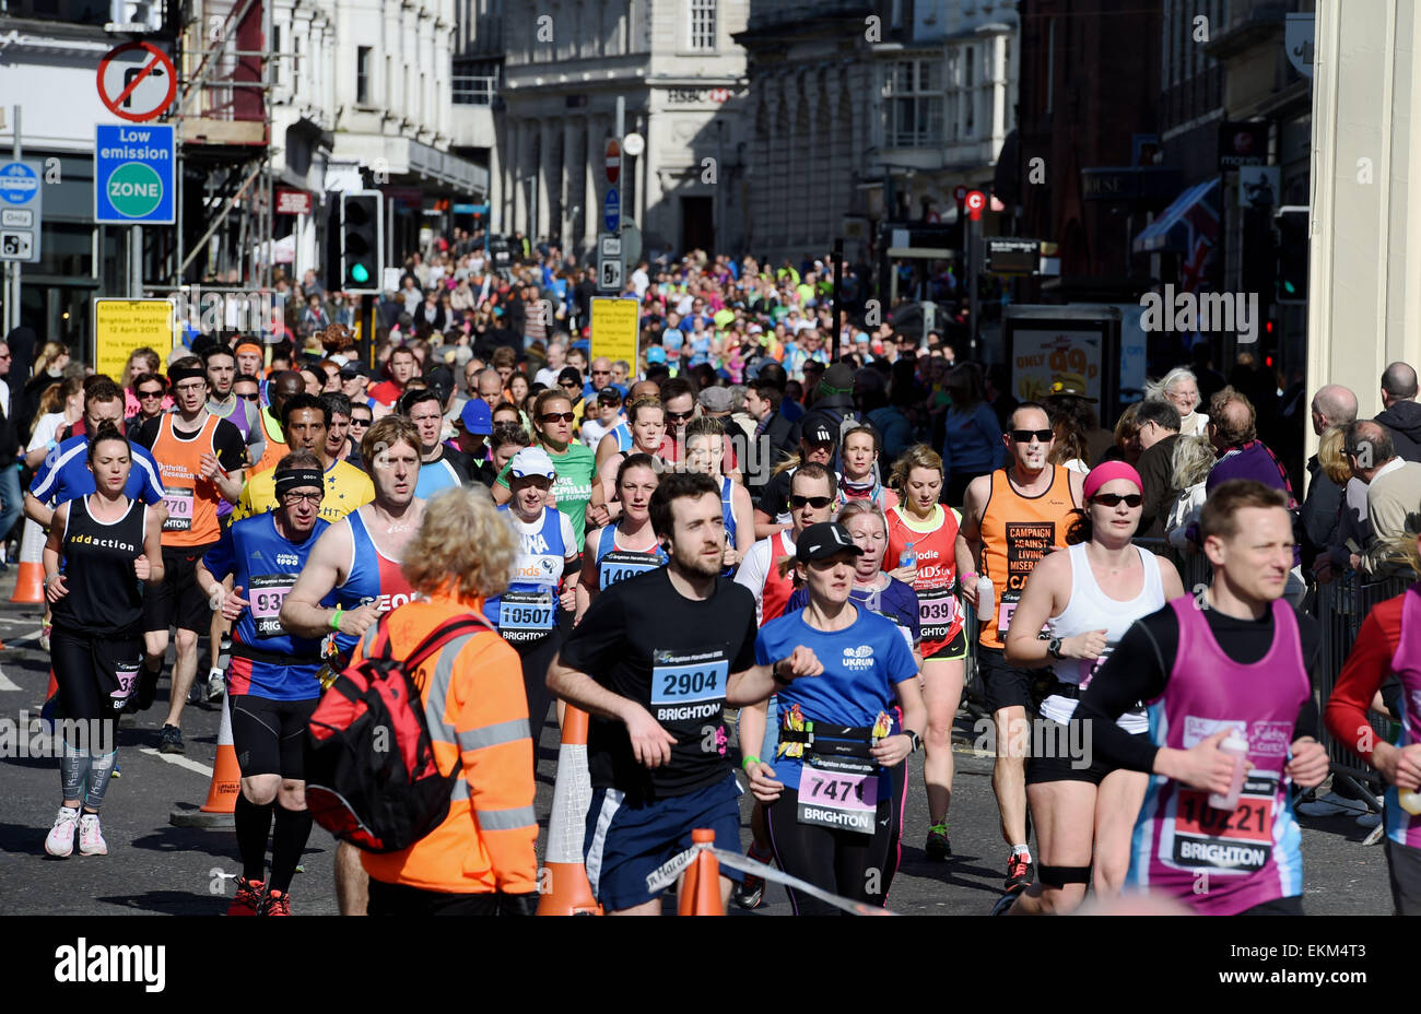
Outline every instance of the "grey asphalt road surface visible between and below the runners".
<path fill-rule="evenodd" d="M 18 723 L 38 714 L 48 659 L 38 648 L 38 606 L 9 602 L 14 568 L 0 575 L 0 720 Z M 203 642 L 206 672 L 206 643 Z M 175 807 L 200 805 L 216 756 L 220 707 L 189 704 L 183 713 L 186 756 L 156 753 L 158 729 L 168 700 L 165 676 L 158 703 L 119 727 L 121 777 L 104 802 L 108 856 L 54 859 L 44 836 L 60 804 L 58 763 L 48 757 L 0 757 L 0 915 L 219 915 L 226 910 L 240 871 L 232 831 L 200 831 L 169 824 Z M 959 726 L 965 730 L 966 721 Z M 537 811 L 546 828 L 557 764 L 557 729 L 543 730 Z M 902 866 L 890 907 L 905 915 L 986 915 L 999 898 L 1007 849 L 998 829 L 992 763 L 969 743 L 958 747 L 949 863 L 929 863 L 922 854 L 926 800 L 921 756 L 912 774 L 902 842 Z M 742 800 L 743 838 L 749 841 L 750 797 Z M 1304 907 L 1312 915 L 1390 915 L 1387 868 L 1380 846 L 1366 846 L 1368 827 L 1356 815 L 1300 818 L 1303 827 Z M 334 839 L 315 828 L 291 886 L 296 915 L 334 915 Z M 541 856 L 543 841 L 539 842 Z M 770 885 L 755 913 L 789 915 L 782 888 Z"/>

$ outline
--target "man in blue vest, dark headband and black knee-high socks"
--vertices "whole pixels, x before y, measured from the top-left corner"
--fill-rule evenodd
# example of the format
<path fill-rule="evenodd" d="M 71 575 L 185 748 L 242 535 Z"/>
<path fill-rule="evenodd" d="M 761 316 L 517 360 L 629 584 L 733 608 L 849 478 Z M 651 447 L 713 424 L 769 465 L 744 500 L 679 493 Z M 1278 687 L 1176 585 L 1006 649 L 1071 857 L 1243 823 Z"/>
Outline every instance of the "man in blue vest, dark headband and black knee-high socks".
<path fill-rule="evenodd" d="M 227 706 L 242 771 L 234 812 L 242 876 L 229 916 L 291 915 L 291 878 L 311 836 L 306 726 L 321 696 L 321 642 L 287 633 L 281 601 L 330 527 L 320 517 L 325 469 L 315 452 L 296 450 L 273 471 L 280 506 L 233 523 L 198 564 L 203 595 L 233 623 Z M 223 587 L 227 577 L 232 591 Z"/>

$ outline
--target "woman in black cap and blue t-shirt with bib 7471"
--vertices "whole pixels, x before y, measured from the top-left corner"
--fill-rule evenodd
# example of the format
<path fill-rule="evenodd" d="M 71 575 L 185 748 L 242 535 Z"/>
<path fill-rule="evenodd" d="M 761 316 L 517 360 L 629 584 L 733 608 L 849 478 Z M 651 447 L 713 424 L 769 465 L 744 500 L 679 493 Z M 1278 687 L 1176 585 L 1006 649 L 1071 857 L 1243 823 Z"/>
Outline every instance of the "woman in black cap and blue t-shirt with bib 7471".
<path fill-rule="evenodd" d="M 836 895 L 882 906 L 897 868 L 902 788 L 890 770 L 921 744 L 926 707 L 918 665 L 898 628 L 851 601 L 863 550 L 844 525 L 810 525 L 796 543 L 809 605 L 760 628 L 756 659 L 789 645 L 824 666 L 779 692 L 776 757 L 746 757 L 750 790 L 766 804 L 780 869 Z M 902 720 L 897 717 L 902 707 Z M 740 712 L 740 741 L 759 743 L 764 704 Z M 880 875 L 874 875 L 874 872 Z M 827 915 L 827 903 L 790 890 L 796 915 Z"/>

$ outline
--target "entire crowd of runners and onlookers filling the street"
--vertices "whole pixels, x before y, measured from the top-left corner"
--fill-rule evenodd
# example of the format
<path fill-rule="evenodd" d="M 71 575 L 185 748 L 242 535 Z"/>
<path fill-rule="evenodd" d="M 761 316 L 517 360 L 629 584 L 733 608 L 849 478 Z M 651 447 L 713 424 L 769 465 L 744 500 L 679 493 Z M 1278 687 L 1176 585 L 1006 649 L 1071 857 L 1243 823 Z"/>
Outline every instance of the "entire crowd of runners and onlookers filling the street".
<path fill-rule="evenodd" d="M 75 836 L 107 854 L 112 726 L 148 723 L 166 673 L 159 750 L 186 748 L 195 693 L 230 709 L 230 912 L 290 915 L 323 689 L 463 616 L 419 677 L 435 754 L 462 767 L 449 812 L 394 854 L 342 842 L 345 913 L 527 910 L 536 743 L 566 707 L 591 716 L 584 859 L 607 912 L 659 912 L 648 875 L 696 828 L 887 905 L 904 835 L 953 858 L 968 709 L 992 729 L 996 913 L 1135 889 L 1302 912 L 1295 800 L 1329 760 L 1319 626 L 1293 606 L 1357 568 L 1418 567 L 1410 366 L 1381 378 L 1376 420 L 1344 388 L 1314 395 L 1299 501 L 1300 395 L 1248 362 L 1225 383 L 1196 356 L 1103 419 L 1081 378 L 1017 402 L 951 335 L 836 327 L 818 261 L 703 256 L 632 273 L 642 355 L 610 361 L 590 355 L 585 283 L 556 251 L 497 274 L 456 237 L 381 300 L 372 366 L 301 287 L 314 320 L 294 345 L 196 335 L 119 378 L 38 351 L 0 437 L 47 531 L 51 714 L 109 733 L 65 743 L 50 855 Z M 1390 783 L 1401 912 L 1421 906 L 1418 595 L 1376 609 L 1323 702 Z M 1371 734 L 1388 712 L 1395 741 Z M 919 750 L 928 821 L 911 827 Z M 722 872 L 726 899 L 763 903 L 762 876 Z"/>

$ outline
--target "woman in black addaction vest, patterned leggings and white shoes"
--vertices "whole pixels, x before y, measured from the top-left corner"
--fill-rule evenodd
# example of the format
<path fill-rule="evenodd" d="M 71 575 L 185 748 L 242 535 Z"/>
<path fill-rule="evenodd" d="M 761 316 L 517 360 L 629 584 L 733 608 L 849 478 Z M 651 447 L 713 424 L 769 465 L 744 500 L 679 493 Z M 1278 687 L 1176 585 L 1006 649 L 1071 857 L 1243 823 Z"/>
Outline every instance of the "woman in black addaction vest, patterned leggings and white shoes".
<path fill-rule="evenodd" d="M 95 491 L 55 508 L 44 547 L 50 658 L 63 712 L 55 738 L 64 741 L 64 805 L 44 851 L 57 856 L 74 852 L 75 827 L 80 855 L 108 855 L 98 808 L 118 753 L 118 714 L 142 658 L 142 582 L 163 579 L 162 518 L 124 494 L 131 466 L 128 439 L 111 423 L 101 426 L 88 446 Z"/>

